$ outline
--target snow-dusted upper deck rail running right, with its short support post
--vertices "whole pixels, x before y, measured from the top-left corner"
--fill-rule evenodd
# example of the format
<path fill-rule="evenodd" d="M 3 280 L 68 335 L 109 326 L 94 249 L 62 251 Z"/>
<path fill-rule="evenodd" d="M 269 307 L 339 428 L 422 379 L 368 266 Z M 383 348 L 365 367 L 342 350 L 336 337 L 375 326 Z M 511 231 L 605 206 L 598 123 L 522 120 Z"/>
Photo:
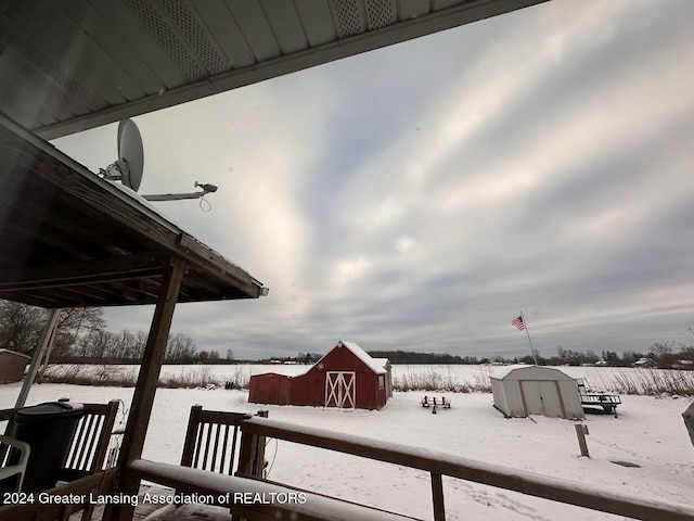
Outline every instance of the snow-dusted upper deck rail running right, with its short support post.
<path fill-rule="evenodd" d="M 386 443 L 258 417 L 243 420 L 242 431 L 244 435 L 247 433 L 274 437 L 427 471 L 432 475 L 434 517 L 437 521 L 444 521 L 446 517 L 442 475 L 644 521 L 694 520 L 694 509 L 687 506 L 672 506 L 606 492 L 582 483 L 488 465 L 427 448 Z"/>

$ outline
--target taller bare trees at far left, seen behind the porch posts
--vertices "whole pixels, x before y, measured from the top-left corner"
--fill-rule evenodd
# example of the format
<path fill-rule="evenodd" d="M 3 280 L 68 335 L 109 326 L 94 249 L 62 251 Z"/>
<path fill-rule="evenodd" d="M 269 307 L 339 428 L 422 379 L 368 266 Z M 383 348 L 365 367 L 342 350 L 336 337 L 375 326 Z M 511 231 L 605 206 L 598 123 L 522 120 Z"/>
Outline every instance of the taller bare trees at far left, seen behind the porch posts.
<path fill-rule="evenodd" d="M 34 355 L 49 312 L 16 302 L 0 301 L 0 347 Z M 106 330 L 100 307 L 61 309 L 52 340 L 53 363 L 140 363 L 147 341 L 145 331 Z M 218 351 L 198 351 L 195 341 L 183 334 L 170 334 L 165 363 L 228 363 L 233 352 L 228 350 L 222 360 Z"/>

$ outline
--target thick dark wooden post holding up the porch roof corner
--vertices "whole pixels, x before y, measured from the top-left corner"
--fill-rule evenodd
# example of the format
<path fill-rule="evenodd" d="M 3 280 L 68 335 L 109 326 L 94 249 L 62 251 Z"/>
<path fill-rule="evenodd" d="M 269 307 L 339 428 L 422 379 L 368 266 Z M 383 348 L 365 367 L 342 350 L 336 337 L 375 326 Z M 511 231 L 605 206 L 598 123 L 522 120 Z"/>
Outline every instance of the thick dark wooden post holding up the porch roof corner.
<path fill-rule="evenodd" d="M 120 457 L 118 466 L 120 467 L 120 478 L 118 483 L 118 492 L 124 494 L 138 494 L 140 490 L 140 480 L 132 479 L 129 475 L 127 466 L 130 461 L 142 456 L 142 447 L 152 415 L 152 406 L 154 405 L 154 395 L 159 380 L 162 363 L 166 354 L 166 344 L 174 318 L 174 309 L 178 300 L 183 272 L 185 270 L 185 262 L 181 258 L 174 258 L 171 266 L 164 274 L 162 282 L 162 292 L 159 294 L 150 335 L 144 348 L 142 364 L 140 365 L 140 374 L 138 383 L 132 395 L 132 404 L 130 406 L 130 415 L 128 416 L 128 424 L 123 437 L 120 446 Z M 108 512 L 107 519 L 112 520 L 130 520 L 132 519 L 133 508 L 128 505 L 118 505 Z M 106 517 L 104 518 L 106 519 Z"/>

